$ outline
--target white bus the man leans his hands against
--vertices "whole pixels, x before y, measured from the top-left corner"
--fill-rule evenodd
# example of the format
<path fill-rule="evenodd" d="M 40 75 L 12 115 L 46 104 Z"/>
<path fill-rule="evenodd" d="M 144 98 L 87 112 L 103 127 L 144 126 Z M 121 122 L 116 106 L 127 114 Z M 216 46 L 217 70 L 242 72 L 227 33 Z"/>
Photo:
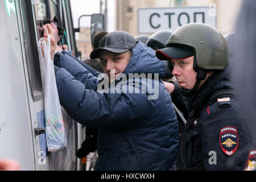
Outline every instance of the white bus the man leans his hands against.
<path fill-rule="evenodd" d="M 48 152 L 37 42 L 38 22 L 57 16 L 65 28 L 63 43 L 76 43 L 68 0 L 0 1 L 0 159 L 14 159 L 22 170 L 80 169 L 76 151 L 85 129 L 63 111 L 68 148 Z"/>

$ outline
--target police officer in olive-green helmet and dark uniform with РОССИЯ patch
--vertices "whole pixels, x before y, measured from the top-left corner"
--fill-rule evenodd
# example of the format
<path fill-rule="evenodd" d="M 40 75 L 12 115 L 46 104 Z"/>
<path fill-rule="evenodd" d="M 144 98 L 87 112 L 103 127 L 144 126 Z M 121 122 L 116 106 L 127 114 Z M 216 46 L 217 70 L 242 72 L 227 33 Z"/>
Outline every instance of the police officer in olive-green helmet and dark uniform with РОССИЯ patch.
<path fill-rule="evenodd" d="M 156 56 L 168 60 L 180 92 L 188 100 L 177 169 L 244 169 L 250 137 L 237 109 L 224 37 L 207 24 L 185 24 Z"/>

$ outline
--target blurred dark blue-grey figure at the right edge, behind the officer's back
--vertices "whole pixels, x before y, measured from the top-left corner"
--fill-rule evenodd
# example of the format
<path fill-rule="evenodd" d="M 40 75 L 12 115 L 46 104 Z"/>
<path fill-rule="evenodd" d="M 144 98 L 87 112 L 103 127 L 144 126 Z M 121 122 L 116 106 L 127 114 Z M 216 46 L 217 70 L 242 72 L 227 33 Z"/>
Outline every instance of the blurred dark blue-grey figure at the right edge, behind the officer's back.
<path fill-rule="evenodd" d="M 242 113 L 251 139 L 245 170 L 256 165 L 256 1 L 245 0 L 236 24 L 234 44 L 233 85 L 237 92 L 238 109 Z"/>

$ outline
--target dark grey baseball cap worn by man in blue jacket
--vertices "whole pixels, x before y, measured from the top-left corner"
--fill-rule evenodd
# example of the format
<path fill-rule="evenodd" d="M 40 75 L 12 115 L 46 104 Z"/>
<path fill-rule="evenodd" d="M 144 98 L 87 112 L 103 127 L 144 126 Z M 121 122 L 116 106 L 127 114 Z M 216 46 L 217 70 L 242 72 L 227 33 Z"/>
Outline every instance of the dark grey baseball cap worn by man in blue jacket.
<path fill-rule="evenodd" d="M 100 57 L 102 50 L 114 53 L 123 53 L 132 50 L 137 44 L 133 35 L 125 31 L 113 31 L 105 35 L 100 42 L 100 46 L 90 53 L 90 59 Z"/>

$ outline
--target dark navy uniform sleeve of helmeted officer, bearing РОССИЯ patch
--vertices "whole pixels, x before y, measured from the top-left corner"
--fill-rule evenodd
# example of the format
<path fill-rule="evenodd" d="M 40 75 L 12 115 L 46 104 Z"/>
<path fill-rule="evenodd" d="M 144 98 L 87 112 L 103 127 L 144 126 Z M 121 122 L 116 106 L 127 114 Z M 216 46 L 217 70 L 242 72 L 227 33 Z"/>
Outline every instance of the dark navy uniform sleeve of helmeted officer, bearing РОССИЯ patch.
<path fill-rule="evenodd" d="M 201 118 L 205 170 L 244 169 L 250 137 L 239 111 L 234 107 L 236 101 L 230 99 L 232 105 L 220 107 L 215 102 L 204 110 Z"/>

